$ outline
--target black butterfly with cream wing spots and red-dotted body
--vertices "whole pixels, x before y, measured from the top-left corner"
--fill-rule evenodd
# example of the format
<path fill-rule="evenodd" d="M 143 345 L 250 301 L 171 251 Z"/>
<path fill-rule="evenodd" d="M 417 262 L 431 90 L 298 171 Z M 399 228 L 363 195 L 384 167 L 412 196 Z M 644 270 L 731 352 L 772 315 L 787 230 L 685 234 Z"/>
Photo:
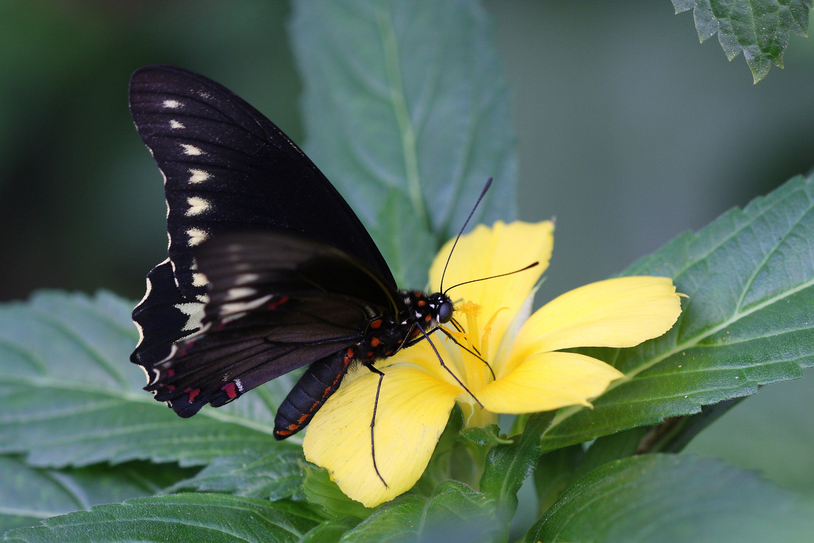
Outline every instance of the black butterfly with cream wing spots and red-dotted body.
<path fill-rule="evenodd" d="M 133 310 L 141 339 L 130 360 L 178 415 L 310 364 L 278 409 L 274 436 L 284 439 L 309 423 L 351 362 L 379 374 L 380 387 L 374 361 L 454 323 L 444 292 L 396 288 L 326 177 L 224 86 L 147 66 L 130 81 L 130 112 L 164 174 L 169 238 L 169 258 L 147 274 Z"/>

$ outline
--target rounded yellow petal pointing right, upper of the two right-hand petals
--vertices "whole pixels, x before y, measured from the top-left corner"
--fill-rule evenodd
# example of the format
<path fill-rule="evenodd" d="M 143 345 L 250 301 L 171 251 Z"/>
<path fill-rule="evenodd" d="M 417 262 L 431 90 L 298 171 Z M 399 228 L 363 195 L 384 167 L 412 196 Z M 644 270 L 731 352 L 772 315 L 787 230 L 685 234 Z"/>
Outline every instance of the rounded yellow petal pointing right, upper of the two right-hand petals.
<path fill-rule="evenodd" d="M 504 374 L 546 351 L 632 347 L 670 330 L 679 314 L 681 300 L 670 278 L 592 282 L 558 296 L 528 318 L 514 340 Z"/>

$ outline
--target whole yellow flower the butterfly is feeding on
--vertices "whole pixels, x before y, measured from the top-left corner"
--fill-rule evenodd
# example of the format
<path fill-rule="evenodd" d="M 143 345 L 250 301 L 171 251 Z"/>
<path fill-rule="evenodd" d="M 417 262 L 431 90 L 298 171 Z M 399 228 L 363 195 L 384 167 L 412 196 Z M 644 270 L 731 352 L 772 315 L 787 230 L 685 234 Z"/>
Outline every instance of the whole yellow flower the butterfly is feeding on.
<path fill-rule="evenodd" d="M 497 221 L 462 236 L 449 262 L 446 287 L 540 265 L 518 274 L 473 282 L 449 291 L 456 339 L 475 348 L 491 366 L 440 333 L 432 335 L 456 383 L 427 341 L 379 361 L 385 374 L 375 424 L 376 475 L 370 454 L 370 418 L 378 376 L 364 367 L 342 386 L 311 421 L 305 458 L 330 472 L 339 488 L 365 506 L 377 506 L 409 490 L 424 469 L 455 402 L 468 425 L 495 422 L 498 413 L 524 414 L 567 405 L 590 406 L 611 381 L 624 377 L 595 358 L 560 353 L 571 347 L 632 347 L 662 335 L 681 313 L 669 278 L 626 277 L 594 282 L 559 296 L 529 316 L 535 285 L 548 267 L 554 224 Z M 432 291 L 440 285 L 452 247 L 441 248 L 430 269 Z M 450 323 L 451 324 L 451 323 Z"/>

